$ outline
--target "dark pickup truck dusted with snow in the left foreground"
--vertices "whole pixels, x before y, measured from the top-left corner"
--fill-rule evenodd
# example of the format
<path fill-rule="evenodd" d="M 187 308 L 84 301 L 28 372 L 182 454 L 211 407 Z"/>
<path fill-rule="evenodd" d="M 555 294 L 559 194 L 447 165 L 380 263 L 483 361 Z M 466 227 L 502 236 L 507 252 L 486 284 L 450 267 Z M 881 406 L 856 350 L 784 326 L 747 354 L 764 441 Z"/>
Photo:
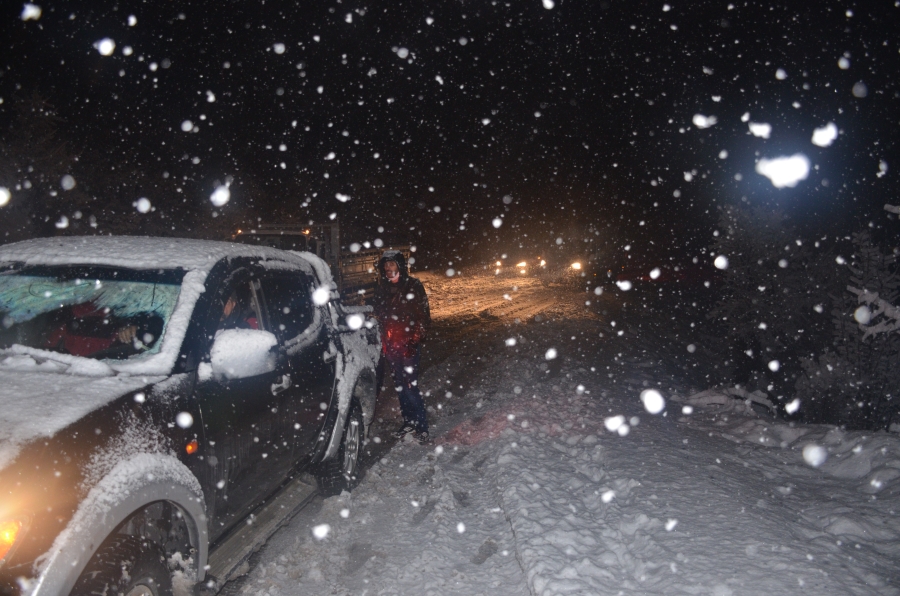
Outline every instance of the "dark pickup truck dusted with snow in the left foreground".
<path fill-rule="evenodd" d="M 0 594 L 215 592 L 317 489 L 351 488 L 366 310 L 311 253 L 0 246 Z"/>

